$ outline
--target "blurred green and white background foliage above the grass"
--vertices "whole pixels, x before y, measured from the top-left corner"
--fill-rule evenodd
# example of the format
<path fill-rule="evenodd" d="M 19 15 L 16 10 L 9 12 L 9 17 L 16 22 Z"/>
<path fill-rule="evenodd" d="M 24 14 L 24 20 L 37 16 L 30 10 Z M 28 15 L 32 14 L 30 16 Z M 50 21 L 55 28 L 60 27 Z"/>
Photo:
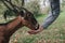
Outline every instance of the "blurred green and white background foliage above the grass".
<path fill-rule="evenodd" d="M 17 6 L 22 6 L 22 0 L 12 0 L 12 3 L 17 5 Z M 61 0 L 61 8 L 64 8 L 64 5 L 65 5 L 65 0 Z M 49 2 L 49 0 L 25 0 L 24 8 L 26 8 L 31 13 L 34 13 L 35 16 L 38 16 L 41 14 L 48 14 L 49 13 L 50 2 Z M 6 10 L 8 9 L 0 1 L 0 11 L 1 11 L 0 13 L 3 14 L 4 11 L 6 11 Z"/>

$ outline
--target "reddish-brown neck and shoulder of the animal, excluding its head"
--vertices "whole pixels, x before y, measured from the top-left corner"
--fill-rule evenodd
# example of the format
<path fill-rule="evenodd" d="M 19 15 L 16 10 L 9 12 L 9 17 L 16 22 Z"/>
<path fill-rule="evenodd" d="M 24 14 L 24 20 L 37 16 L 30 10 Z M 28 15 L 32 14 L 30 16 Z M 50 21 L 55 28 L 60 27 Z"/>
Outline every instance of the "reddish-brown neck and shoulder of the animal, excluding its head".
<path fill-rule="evenodd" d="M 22 17 L 17 16 L 14 20 L 8 24 L 0 24 L 0 43 L 9 43 L 10 37 L 17 30 Z"/>

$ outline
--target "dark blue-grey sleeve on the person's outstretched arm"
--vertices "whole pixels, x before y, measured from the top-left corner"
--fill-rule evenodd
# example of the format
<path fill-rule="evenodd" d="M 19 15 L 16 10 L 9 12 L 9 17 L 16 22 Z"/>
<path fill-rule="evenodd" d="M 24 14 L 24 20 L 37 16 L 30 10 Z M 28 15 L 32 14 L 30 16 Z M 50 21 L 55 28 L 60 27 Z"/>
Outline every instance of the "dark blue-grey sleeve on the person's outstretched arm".
<path fill-rule="evenodd" d="M 42 27 L 47 29 L 60 15 L 60 0 L 50 0 L 51 12 L 42 24 Z"/>

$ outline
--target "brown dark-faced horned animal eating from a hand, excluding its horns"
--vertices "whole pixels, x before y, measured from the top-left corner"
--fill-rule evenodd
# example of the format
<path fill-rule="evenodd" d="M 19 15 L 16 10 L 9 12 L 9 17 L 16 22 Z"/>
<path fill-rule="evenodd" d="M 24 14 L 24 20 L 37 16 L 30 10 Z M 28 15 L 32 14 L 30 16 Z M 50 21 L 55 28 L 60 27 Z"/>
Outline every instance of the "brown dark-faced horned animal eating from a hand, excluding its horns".
<path fill-rule="evenodd" d="M 39 24 L 30 13 L 18 14 L 18 16 L 5 24 L 0 24 L 0 43 L 9 43 L 10 37 L 21 27 L 26 26 L 30 29 L 38 29 Z"/>

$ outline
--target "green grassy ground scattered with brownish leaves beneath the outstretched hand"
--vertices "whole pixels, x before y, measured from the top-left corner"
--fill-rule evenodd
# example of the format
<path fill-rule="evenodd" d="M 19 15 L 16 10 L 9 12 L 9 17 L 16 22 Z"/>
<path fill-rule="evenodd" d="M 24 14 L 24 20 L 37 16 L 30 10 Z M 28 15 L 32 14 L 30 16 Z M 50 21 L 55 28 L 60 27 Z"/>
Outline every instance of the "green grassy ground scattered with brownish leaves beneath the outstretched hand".
<path fill-rule="evenodd" d="M 42 24 L 44 16 L 38 17 L 37 20 Z M 10 43 L 65 43 L 65 11 L 42 32 L 30 35 L 27 33 L 28 30 L 26 27 L 17 30 L 11 37 Z"/>

